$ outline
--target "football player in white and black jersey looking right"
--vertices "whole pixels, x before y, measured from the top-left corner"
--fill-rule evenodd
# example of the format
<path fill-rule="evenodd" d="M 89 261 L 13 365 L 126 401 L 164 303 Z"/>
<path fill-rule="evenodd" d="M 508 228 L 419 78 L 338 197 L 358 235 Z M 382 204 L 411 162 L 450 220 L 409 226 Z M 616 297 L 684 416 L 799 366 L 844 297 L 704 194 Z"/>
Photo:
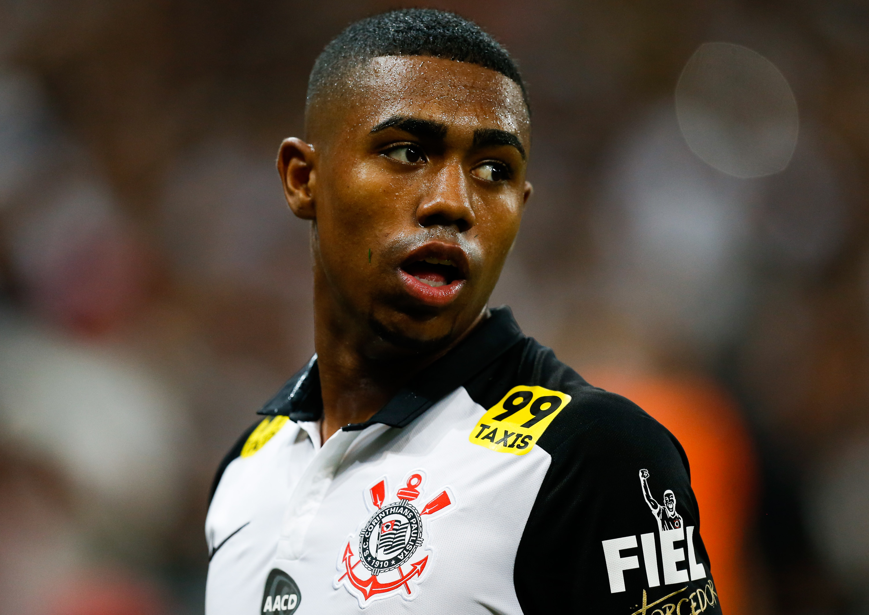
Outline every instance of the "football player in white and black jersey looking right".
<path fill-rule="evenodd" d="M 369 17 L 317 58 L 277 159 L 316 354 L 217 473 L 208 615 L 720 612 L 679 443 L 488 307 L 530 154 L 516 63 L 461 17 Z"/>

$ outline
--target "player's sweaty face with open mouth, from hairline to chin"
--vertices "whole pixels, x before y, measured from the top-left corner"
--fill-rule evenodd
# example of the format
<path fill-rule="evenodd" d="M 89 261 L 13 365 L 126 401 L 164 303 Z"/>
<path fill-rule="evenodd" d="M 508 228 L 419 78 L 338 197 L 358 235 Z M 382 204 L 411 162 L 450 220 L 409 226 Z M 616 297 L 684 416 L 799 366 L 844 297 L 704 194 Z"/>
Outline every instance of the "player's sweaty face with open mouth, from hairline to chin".
<path fill-rule="evenodd" d="M 474 64 L 375 58 L 315 149 L 315 274 L 399 346 L 478 317 L 531 195 L 521 89 Z"/>

